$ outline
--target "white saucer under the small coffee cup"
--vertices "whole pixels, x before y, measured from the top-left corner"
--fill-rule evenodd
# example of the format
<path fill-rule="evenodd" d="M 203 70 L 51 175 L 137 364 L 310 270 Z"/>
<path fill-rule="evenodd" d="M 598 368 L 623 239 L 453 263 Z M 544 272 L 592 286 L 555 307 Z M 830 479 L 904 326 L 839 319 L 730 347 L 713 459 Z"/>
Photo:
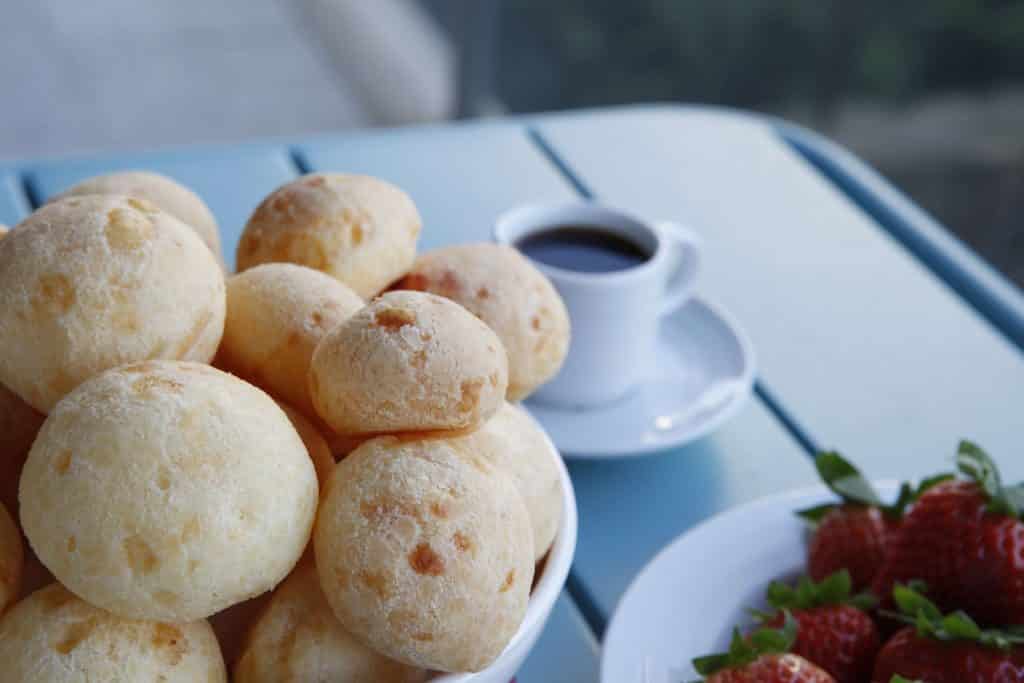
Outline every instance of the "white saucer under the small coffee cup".
<path fill-rule="evenodd" d="M 720 306 L 694 297 L 662 321 L 647 379 L 609 405 L 572 410 L 527 400 L 569 458 L 638 456 L 705 436 L 732 417 L 754 386 L 754 347 Z"/>

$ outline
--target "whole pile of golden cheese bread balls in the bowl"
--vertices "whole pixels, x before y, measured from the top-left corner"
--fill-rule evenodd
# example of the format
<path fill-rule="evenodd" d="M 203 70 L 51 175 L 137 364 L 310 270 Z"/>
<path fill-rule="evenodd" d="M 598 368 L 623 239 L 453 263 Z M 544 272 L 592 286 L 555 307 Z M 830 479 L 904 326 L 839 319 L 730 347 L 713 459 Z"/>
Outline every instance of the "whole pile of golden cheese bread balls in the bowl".
<path fill-rule="evenodd" d="M 399 188 L 310 174 L 227 275 L 193 191 L 87 179 L 0 239 L 0 667 L 28 681 L 486 668 L 560 522 L 514 402 L 565 307 L 518 252 L 417 254 Z"/>

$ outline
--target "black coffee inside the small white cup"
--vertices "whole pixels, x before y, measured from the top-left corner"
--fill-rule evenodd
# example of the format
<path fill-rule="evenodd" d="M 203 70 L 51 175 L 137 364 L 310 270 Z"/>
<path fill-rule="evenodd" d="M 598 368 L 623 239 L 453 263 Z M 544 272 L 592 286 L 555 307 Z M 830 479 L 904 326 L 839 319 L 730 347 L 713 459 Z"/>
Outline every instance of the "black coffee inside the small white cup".
<path fill-rule="evenodd" d="M 559 225 L 516 243 L 529 258 L 565 270 L 611 272 L 650 258 L 636 243 L 595 225 Z"/>

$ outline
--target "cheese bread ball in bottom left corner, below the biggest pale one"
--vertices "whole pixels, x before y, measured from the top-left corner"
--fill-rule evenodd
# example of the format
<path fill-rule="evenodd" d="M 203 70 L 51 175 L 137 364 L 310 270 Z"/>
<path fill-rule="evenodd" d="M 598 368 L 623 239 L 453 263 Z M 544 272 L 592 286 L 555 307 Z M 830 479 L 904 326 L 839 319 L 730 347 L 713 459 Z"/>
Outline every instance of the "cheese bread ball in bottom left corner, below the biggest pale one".
<path fill-rule="evenodd" d="M 36 591 L 0 620 L 7 683 L 226 683 L 206 622 L 161 624 L 116 616 L 59 584 Z"/>

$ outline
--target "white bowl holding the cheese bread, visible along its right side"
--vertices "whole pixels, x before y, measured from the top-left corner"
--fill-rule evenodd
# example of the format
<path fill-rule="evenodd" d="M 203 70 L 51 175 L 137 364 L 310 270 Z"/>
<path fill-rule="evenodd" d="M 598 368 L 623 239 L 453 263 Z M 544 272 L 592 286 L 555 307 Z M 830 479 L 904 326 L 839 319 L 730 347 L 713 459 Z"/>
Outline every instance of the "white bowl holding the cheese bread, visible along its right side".
<path fill-rule="evenodd" d="M 540 427 L 540 424 L 538 424 Z M 545 432 L 547 436 L 547 432 Z M 548 438 L 552 457 L 558 463 L 558 474 L 562 483 L 562 520 L 558 526 L 555 543 L 548 553 L 548 561 L 544 573 L 529 596 L 526 615 L 519 630 L 512 637 L 505 651 L 489 667 L 475 674 L 441 674 L 430 679 L 430 683 L 509 683 L 516 675 L 526 655 L 534 648 L 537 639 L 544 631 L 555 601 L 562 592 L 565 579 L 572 565 L 572 555 L 575 553 L 578 530 L 575 493 L 572 480 L 569 479 L 565 463 L 558 455 L 555 444 Z"/>

